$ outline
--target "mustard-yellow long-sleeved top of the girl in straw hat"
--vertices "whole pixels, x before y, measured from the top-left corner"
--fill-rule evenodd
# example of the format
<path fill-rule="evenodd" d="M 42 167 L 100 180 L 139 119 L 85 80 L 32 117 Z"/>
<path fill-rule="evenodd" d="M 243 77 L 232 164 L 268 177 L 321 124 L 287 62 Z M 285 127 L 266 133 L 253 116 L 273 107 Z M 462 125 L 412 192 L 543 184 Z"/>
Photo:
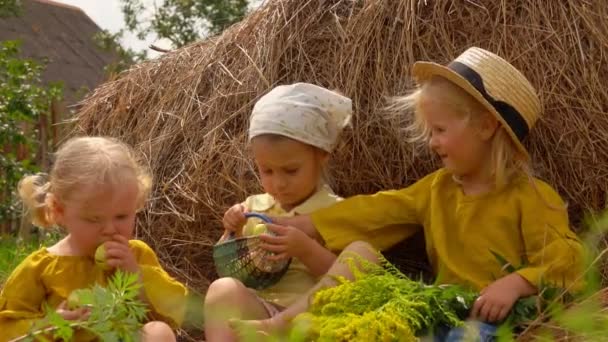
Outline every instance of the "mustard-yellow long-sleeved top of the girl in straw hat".
<path fill-rule="evenodd" d="M 486 287 L 507 274 L 494 253 L 537 287 L 567 287 L 581 274 L 582 244 L 569 228 L 562 199 L 525 176 L 468 196 L 440 169 L 401 190 L 345 199 L 313 213 L 312 220 L 336 250 L 357 240 L 383 250 L 422 226 L 438 284 Z"/>

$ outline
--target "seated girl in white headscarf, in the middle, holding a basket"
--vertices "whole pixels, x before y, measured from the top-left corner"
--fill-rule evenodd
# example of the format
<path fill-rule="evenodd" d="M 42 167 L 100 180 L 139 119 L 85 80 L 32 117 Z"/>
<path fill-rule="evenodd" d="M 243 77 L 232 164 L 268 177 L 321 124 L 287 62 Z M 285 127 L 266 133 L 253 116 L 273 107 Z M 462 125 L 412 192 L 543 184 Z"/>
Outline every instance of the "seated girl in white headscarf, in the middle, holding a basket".
<path fill-rule="evenodd" d="M 338 202 L 324 171 L 351 114 L 349 98 L 313 84 L 282 85 L 262 96 L 251 113 L 249 141 L 266 193 L 226 211 L 220 241 L 230 235 L 256 234 L 255 221 L 246 219 L 247 212 L 289 217 Z M 292 258 L 287 272 L 278 283 L 258 291 L 229 277 L 214 281 L 205 297 L 207 341 L 235 340 L 228 326 L 231 318 L 277 315 L 310 290 L 335 260 L 333 253 L 302 231 L 267 226 L 278 236 L 270 248 L 273 258 Z"/>

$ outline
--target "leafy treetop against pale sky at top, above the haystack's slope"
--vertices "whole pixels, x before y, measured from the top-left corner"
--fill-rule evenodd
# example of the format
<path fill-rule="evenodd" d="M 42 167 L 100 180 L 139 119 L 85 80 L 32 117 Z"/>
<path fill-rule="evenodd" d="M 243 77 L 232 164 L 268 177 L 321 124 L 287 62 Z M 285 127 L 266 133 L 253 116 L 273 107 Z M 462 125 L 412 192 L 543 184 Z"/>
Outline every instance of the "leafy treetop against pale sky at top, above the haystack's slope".
<path fill-rule="evenodd" d="M 216 34 L 238 22 L 247 12 L 247 0 L 165 0 L 148 16 L 144 0 L 121 0 L 126 27 L 144 39 L 154 33 L 181 47 Z"/>

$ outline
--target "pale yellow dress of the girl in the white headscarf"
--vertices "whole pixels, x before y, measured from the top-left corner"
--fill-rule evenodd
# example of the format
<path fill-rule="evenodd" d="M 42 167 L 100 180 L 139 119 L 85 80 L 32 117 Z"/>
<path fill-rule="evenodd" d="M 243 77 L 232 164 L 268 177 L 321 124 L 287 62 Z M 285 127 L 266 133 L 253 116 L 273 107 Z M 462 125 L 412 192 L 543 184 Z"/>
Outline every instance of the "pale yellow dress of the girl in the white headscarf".
<path fill-rule="evenodd" d="M 323 186 L 308 200 L 289 212 L 283 210 L 269 194 L 250 196 L 245 200 L 245 206 L 249 211 L 276 217 L 289 217 L 310 214 L 340 200 L 341 198 L 336 196 L 328 186 Z M 257 219 L 248 220 L 243 227 L 243 235 L 252 235 L 255 225 L 259 222 Z M 257 294 L 268 302 L 286 307 L 305 294 L 316 283 L 317 277 L 310 274 L 308 268 L 301 261 L 293 258 L 289 269 L 281 280 L 269 288 L 257 291 Z"/>

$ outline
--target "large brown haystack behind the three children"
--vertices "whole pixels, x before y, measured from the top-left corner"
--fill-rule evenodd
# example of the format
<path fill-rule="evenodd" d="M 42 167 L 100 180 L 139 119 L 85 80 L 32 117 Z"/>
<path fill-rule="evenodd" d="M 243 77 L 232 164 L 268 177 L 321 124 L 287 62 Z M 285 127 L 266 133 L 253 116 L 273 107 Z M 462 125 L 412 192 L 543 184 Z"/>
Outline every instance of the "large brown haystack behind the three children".
<path fill-rule="evenodd" d="M 136 65 L 89 96 L 77 133 L 119 137 L 144 152 L 153 199 L 138 233 L 182 280 L 215 277 L 211 245 L 231 204 L 260 191 L 246 149 L 256 99 L 313 82 L 353 98 L 353 129 L 334 154 L 335 190 L 399 188 L 437 160 L 406 143 L 381 108 L 411 86 L 416 60 L 445 63 L 476 45 L 540 89 L 545 115 L 529 147 L 538 175 L 578 225 L 606 206 L 608 10 L 600 0 L 267 1 L 222 35 Z"/>

